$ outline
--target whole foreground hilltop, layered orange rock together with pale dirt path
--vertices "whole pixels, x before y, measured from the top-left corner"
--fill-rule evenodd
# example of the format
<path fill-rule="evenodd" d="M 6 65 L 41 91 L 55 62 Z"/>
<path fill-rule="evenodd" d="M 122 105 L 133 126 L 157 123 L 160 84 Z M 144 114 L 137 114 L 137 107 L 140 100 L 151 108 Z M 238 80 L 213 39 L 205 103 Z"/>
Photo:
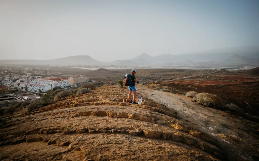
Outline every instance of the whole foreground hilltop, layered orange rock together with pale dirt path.
<path fill-rule="evenodd" d="M 242 119 L 188 97 L 136 88 L 142 105 L 127 103 L 126 88 L 105 85 L 4 115 L 0 160 L 258 159 L 258 136 Z"/>

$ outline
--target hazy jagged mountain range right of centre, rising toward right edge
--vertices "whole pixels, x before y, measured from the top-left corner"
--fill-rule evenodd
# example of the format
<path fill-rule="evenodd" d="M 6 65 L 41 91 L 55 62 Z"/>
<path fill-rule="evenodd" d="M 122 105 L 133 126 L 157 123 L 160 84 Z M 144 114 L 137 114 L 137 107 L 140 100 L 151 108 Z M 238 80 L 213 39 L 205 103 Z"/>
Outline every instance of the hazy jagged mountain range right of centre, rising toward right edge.
<path fill-rule="evenodd" d="M 234 55 L 234 56 L 233 56 Z M 232 57 L 233 56 L 233 57 Z M 131 59 L 140 64 L 146 63 L 190 63 L 190 62 L 218 62 L 231 64 L 249 64 L 258 65 L 259 47 L 231 47 L 220 48 L 214 50 L 206 50 L 200 52 L 186 54 L 162 54 L 151 57 L 148 54 L 141 54 L 138 57 Z"/>

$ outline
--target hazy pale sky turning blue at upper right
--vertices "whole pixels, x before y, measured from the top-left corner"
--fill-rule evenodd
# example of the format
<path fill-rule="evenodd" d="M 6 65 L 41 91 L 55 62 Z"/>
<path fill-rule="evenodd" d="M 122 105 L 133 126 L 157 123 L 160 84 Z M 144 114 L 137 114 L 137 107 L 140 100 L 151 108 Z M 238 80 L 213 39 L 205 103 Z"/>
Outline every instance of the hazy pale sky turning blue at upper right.
<path fill-rule="evenodd" d="M 99 61 L 259 46 L 259 1 L 0 0 L 0 59 Z"/>

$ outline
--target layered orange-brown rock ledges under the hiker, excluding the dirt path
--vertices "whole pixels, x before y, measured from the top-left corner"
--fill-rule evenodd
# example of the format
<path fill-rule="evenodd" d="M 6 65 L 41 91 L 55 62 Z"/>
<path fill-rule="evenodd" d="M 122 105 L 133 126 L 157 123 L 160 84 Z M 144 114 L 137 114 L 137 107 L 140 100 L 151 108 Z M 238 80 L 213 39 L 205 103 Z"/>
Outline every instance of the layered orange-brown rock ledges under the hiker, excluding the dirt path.
<path fill-rule="evenodd" d="M 31 113 L 22 108 L 1 128 L 0 159 L 235 160 L 175 109 L 146 97 L 142 105 L 125 98 L 127 89 L 105 86 Z"/>

